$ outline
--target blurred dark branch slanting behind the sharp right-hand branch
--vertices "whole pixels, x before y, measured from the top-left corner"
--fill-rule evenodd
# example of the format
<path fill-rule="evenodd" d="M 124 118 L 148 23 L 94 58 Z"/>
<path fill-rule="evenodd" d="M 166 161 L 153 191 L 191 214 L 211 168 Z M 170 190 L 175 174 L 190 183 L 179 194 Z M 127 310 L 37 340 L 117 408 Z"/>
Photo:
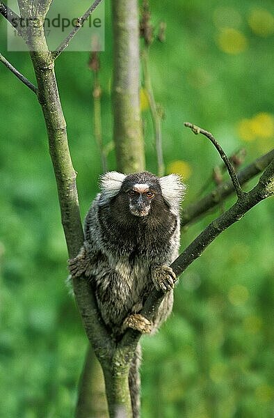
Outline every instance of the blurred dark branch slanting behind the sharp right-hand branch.
<path fill-rule="evenodd" d="M 245 169 L 239 171 L 239 173 L 237 173 L 239 183 L 244 185 L 248 180 L 257 176 L 261 171 L 264 171 L 273 158 L 274 149 L 257 158 L 257 160 L 249 164 Z M 234 190 L 234 185 L 231 180 L 227 180 L 225 183 L 216 187 L 216 189 L 213 189 L 207 196 L 188 205 L 182 210 L 181 226 L 186 226 L 195 219 L 198 219 L 201 215 L 206 214 L 209 209 L 216 207 L 221 201 L 230 196 Z"/>

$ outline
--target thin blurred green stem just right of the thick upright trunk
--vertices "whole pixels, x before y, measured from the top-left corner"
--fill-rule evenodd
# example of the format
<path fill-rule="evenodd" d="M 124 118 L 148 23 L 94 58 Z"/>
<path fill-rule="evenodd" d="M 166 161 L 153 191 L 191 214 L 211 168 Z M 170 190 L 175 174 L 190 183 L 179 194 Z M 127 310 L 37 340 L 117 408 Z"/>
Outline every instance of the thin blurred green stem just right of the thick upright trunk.
<path fill-rule="evenodd" d="M 150 103 L 150 113 L 152 116 L 152 123 L 154 126 L 155 146 L 158 163 L 158 176 L 161 177 L 165 173 L 165 164 L 163 162 L 161 115 L 159 114 L 159 110 L 157 109 L 157 105 L 153 94 L 152 82 L 150 79 L 149 48 L 149 45 L 145 45 L 141 56 L 143 61 L 145 91 L 147 92 L 148 100 Z"/>

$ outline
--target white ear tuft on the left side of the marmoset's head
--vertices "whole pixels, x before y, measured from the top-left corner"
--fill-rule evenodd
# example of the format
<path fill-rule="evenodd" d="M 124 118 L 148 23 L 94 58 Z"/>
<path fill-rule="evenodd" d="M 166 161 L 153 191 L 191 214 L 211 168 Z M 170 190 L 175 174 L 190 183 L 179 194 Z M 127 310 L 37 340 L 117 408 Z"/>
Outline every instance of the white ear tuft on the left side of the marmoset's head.
<path fill-rule="evenodd" d="M 120 192 L 122 182 L 127 176 L 117 171 L 108 171 L 100 178 L 100 186 L 102 189 L 100 205 L 108 203 L 109 199 L 116 196 Z"/>

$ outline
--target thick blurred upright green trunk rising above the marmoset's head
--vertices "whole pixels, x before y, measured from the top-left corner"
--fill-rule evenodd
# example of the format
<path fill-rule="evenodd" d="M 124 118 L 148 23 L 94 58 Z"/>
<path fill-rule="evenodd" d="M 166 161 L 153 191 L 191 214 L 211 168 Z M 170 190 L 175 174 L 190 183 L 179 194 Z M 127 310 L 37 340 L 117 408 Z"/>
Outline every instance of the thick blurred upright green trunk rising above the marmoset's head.
<path fill-rule="evenodd" d="M 113 139 L 118 171 L 145 169 L 137 0 L 113 0 Z"/>

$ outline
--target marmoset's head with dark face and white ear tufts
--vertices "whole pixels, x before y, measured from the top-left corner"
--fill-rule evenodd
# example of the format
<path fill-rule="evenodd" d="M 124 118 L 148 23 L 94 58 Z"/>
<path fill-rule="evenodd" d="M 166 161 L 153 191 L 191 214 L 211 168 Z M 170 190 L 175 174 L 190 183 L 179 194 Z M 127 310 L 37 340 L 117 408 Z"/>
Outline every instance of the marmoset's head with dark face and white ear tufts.
<path fill-rule="evenodd" d="M 148 171 L 127 176 L 110 171 L 102 176 L 99 212 L 106 212 L 113 227 L 118 224 L 131 233 L 141 225 L 160 228 L 170 217 L 179 216 L 184 189 L 175 174 L 159 178 Z"/>

